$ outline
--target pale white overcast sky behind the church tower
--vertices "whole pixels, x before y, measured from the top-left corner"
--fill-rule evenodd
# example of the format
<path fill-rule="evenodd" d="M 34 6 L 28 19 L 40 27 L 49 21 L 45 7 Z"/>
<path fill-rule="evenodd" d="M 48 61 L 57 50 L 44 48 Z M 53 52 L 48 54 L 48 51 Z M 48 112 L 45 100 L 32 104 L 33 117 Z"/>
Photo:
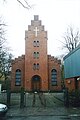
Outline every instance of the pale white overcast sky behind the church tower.
<path fill-rule="evenodd" d="M 24 9 L 17 0 L 6 1 L 0 2 L 0 16 L 7 24 L 6 38 L 14 57 L 25 54 L 25 30 L 28 30 L 34 15 L 39 15 L 45 26 L 48 54 L 52 56 L 64 53 L 61 48 L 68 26 L 80 31 L 80 0 L 28 0 L 31 5 L 29 10 Z"/>

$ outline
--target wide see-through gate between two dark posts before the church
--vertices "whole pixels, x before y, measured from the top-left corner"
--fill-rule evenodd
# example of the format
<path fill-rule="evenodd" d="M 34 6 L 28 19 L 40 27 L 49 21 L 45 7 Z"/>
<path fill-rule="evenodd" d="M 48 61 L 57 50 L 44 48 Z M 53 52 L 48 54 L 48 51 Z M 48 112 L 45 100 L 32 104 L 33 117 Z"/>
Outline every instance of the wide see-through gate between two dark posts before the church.
<path fill-rule="evenodd" d="M 58 107 L 64 106 L 64 92 L 25 93 L 26 107 Z"/>

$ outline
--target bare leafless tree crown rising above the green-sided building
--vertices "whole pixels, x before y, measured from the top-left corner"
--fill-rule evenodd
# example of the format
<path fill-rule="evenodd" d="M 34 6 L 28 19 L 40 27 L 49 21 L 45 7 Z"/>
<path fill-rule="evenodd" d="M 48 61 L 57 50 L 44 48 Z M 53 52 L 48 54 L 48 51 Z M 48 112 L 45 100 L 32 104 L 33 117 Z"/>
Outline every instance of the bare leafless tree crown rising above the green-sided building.
<path fill-rule="evenodd" d="M 67 48 L 69 52 L 75 49 L 80 44 L 80 33 L 79 31 L 74 31 L 72 27 L 67 29 L 64 35 L 63 48 Z"/>

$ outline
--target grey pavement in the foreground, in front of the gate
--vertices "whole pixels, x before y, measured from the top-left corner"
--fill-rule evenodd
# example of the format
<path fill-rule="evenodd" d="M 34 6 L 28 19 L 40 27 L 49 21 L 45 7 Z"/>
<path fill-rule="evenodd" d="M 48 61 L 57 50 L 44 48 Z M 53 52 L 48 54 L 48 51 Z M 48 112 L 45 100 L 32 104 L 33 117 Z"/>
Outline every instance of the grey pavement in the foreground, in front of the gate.
<path fill-rule="evenodd" d="M 11 107 L 6 120 L 80 120 L 80 108 Z"/>

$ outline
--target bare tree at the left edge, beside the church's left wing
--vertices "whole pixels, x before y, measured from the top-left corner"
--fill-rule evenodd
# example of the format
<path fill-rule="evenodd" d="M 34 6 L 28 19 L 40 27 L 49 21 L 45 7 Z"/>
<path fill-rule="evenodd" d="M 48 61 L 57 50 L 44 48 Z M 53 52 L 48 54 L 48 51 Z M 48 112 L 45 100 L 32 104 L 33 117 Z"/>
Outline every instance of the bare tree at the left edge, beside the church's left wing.
<path fill-rule="evenodd" d="M 12 54 L 9 53 L 8 47 L 5 46 L 6 39 L 5 39 L 5 30 L 4 27 L 6 25 L 2 22 L 0 18 L 0 78 L 4 75 L 6 79 L 9 75 L 10 67 L 11 67 L 11 59 Z"/>

